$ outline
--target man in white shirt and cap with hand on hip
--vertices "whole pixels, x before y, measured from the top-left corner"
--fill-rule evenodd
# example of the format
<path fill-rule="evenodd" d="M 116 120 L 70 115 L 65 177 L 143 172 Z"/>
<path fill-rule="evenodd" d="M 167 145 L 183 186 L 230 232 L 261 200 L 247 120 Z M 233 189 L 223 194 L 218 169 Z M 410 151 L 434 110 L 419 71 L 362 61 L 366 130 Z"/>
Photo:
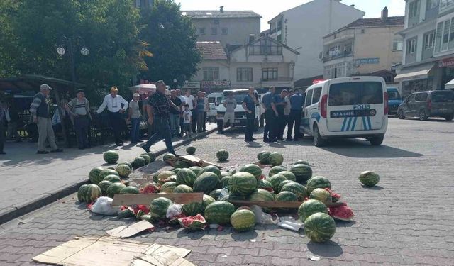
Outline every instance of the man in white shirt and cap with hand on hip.
<path fill-rule="evenodd" d="M 121 140 L 121 113 L 124 113 L 128 109 L 128 101 L 118 95 L 118 88 L 115 86 L 111 87 L 111 93 L 104 97 L 104 101 L 102 101 L 96 113 L 102 113 L 106 107 L 107 111 L 109 111 L 109 121 L 115 135 L 115 144 L 121 146 L 123 145 L 123 140 Z"/>

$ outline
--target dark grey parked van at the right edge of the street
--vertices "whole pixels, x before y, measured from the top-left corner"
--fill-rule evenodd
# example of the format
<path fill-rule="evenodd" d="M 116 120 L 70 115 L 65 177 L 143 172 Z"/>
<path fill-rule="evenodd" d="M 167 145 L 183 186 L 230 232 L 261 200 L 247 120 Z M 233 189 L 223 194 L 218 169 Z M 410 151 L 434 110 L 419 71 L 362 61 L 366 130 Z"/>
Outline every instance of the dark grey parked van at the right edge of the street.
<path fill-rule="evenodd" d="M 421 121 L 429 117 L 443 117 L 451 121 L 454 117 L 454 92 L 436 90 L 410 94 L 399 106 L 397 116 L 400 119 L 416 116 Z"/>

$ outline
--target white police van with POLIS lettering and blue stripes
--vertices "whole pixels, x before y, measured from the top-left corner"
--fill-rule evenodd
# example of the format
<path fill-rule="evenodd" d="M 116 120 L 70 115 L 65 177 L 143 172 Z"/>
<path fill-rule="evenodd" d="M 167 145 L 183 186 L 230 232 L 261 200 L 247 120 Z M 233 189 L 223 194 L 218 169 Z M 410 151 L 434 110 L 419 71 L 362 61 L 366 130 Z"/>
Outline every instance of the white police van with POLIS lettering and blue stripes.
<path fill-rule="evenodd" d="M 342 77 L 312 85 L 304 93 L 301 133 L 321 147 L 329 138 L 365 138 L 381 145 L 388 126 L 382 77 Z"/>

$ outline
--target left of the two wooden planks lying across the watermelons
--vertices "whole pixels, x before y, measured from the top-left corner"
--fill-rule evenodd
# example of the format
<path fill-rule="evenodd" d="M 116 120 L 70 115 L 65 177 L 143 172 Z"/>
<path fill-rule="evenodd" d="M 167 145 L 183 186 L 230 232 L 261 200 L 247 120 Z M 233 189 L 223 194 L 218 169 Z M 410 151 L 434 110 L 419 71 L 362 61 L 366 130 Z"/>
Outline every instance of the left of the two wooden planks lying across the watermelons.
<path fill-rule="evenodd" d="M 112 206 L 150 205 L 153 199 L 167 198 L 178 204 L 202 202 L 203 193 L 169 193 L 169 194 L 116 194 Z"/>

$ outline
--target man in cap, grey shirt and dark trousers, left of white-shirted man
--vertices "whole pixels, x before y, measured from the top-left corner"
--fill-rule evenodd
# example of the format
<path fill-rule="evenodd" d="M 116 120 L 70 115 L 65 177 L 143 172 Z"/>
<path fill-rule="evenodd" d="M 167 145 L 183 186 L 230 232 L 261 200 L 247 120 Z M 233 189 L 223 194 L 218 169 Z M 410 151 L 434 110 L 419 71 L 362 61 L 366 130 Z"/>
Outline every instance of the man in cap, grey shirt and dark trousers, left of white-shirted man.
<path fill-rule="evenodd" d="M 67 105 L 67 111 L 71 114 L 77 136 L 77 146 L 80 150 L 89 148 L 88 134 L 92 115 L 90 114 L 90 103 L 85 98 L 83 89 L 78 89 L 76 98 Z"/>

